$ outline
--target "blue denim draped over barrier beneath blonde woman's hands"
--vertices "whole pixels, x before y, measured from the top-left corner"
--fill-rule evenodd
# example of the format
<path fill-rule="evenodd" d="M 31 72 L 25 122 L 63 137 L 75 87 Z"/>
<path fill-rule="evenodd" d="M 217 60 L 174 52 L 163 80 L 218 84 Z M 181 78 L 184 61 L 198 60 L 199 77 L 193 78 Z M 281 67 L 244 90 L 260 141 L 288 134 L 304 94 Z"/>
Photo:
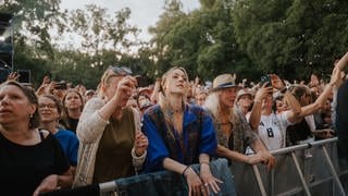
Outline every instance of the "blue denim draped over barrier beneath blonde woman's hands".
<path fill-rule="evenodd" d="M 199 164 L 191 166 L 199 174 Z M 220 185 L 220 196 L 236 195 L 233 175 L 227 166 L 226 159 L 216 159 L 210 163 L 212 174 L 223 181 Z M 159 171 L 154 173 L 140 174 L 127 179 L 116 180 L 115 193 L 119 196 L 182 196 L 188 195 L 186 179 L 182 175 L 170 172 Z M 211 192 L 212 193 L 212 192 Z"/>

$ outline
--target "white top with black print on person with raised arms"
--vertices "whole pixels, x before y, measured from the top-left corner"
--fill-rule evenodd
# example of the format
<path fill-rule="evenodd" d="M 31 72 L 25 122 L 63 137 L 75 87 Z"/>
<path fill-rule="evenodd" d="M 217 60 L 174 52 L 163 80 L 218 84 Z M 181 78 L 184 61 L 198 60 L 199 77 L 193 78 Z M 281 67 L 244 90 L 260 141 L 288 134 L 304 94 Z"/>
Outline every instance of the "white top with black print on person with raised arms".
<path fill-rule="evenodd" d="M 287 112 L 261 115 L 258 133 L 269 150 L 284 148 L 286 145 L 286 127 L 291 125 L 286 118 Z"/>

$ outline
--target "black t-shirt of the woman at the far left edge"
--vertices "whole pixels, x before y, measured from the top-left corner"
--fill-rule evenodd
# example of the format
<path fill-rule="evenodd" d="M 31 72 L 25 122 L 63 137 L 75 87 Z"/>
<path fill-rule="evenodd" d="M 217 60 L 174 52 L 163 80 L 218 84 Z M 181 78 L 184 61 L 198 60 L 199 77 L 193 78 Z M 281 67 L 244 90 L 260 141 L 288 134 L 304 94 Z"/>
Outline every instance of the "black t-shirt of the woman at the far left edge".
<path fill-rule="evenodd" d="M 61 145 L 49 134 L 41 143 L 22 146 L 0 133 L 1 193 L 29 196 L 50 174 L 62 174 L 70 168 Z"/>

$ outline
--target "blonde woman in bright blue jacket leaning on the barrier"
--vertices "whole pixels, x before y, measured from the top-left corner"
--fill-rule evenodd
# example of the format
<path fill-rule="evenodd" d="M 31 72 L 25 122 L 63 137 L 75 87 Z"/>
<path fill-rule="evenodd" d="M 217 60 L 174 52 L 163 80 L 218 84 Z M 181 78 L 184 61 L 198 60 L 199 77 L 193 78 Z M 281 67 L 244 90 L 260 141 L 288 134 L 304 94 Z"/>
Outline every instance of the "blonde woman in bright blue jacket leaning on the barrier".
<path fill-rule="evenodd" d="M 158 105 L 144 114 L 144 132 L 149 138 L 146 171 L 170 170 L 186 177 L 189 194 L 220 191 L 220 180 L 209 162 L 216 149 L 212 120 L 200 107 L 185 101 L 188 77 L 183 68 L 172 68 L 162 77 Z M 190 164 L 200 163 L 200 174 Z"/>

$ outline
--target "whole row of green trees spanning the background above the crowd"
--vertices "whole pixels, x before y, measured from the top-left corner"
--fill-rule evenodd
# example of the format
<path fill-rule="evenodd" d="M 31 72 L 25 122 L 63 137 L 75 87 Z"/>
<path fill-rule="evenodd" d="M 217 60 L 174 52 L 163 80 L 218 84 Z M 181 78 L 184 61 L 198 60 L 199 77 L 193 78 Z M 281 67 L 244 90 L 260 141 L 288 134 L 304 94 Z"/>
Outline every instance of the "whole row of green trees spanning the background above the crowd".
<path fill-rule="evenodd" d="M 0 12 L 14 15 L 14 70 L 32 70 L 36 85 L 51 73 L 57 81 L 96 87 L 114 64 L 150 81 L 173 65 L 203 81 L 221 73 L 258 81 L 270 72 L 308 78 L 328 73 L 348 47 L 345 0 L 200 3 L 186 13 L 179 0 L 166 0 L 149 42 L 139 41 L 139 29 L 128 24 L 128 8 L 109 15 L 95 4 L 69 12 L 59 9 L 60 0 L 5 0 Z M 72 42 L 59 45 L 66 35 L 74 35 Z"/>

